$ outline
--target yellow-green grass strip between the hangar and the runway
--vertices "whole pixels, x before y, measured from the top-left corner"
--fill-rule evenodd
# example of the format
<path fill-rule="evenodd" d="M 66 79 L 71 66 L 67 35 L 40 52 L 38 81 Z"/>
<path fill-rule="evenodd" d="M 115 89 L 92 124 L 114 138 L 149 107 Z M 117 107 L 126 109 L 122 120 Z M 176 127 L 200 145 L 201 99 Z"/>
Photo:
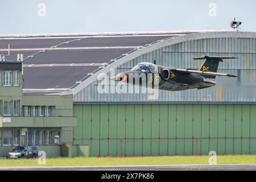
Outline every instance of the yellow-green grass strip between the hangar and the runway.
<path fill-rule="evenodd" d="M 209 156 L 77 157 L 49 158 L 46 165 L 38 159 L 0 159 L 0 166 L 112 166 L 152 164 L 208 164 Z M 217 156 L 218 164 L 256 163 L 256 155 Z"/>

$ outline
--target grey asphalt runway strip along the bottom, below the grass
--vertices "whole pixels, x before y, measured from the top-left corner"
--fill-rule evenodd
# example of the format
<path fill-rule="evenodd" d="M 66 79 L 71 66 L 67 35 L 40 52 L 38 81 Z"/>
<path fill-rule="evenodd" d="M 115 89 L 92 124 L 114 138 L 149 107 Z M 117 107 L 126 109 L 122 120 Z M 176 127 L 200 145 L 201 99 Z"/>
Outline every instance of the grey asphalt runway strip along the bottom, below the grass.
<path fill-rule="evenodd" d="M 0 171 L 256 171 L 256 164 L 0 167 Z"/>

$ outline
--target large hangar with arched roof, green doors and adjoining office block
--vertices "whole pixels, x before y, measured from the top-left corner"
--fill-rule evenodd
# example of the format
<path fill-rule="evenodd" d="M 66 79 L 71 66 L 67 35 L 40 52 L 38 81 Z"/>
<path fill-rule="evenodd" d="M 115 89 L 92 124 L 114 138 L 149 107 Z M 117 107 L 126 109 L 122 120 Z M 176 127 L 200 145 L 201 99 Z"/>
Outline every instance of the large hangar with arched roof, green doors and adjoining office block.
<path fill-rule="evenodd" d="M 15 144 L 37 144 L 48 156 L 256 154 L 254 32 L 6 35 L 0 52 L 0 156 Z M 102 73 L 154 60 L 199 68 L 191 58 L 202 55 L 239 57 L 218 68 L 238 78 L 218 77 L 202 90 L 159 90 L 155 100 L 116 93 L 111 82 L 109 93 L 98 92 Z M 16 71 L 23 74 L 19 86 Z"/>

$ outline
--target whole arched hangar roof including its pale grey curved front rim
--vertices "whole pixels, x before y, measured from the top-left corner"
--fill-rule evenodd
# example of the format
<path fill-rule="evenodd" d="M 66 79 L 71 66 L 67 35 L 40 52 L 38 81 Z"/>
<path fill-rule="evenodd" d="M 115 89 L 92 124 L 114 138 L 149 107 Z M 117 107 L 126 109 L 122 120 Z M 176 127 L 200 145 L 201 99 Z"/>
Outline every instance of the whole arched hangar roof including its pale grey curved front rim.
<path fill-rule="evenodd" d="M 180 31 L 115 34 L 16 35 L 0 37 L 0 53 L 23 53 L 24 93 L 78 93 L 99 73 L 144 53 L 207 38 L 256 38 L 253 32 Z"/>

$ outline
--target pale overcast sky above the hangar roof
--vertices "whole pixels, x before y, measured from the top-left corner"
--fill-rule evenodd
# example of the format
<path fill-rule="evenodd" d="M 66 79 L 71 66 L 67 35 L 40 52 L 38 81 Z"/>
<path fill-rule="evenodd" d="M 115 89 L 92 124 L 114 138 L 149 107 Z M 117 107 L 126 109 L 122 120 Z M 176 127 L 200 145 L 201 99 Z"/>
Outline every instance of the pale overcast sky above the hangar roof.
<path fill-rule="evenodd" d="M 256 31 L 253 0 L 0 0 L 0 34 L 229 29 Z"/>

